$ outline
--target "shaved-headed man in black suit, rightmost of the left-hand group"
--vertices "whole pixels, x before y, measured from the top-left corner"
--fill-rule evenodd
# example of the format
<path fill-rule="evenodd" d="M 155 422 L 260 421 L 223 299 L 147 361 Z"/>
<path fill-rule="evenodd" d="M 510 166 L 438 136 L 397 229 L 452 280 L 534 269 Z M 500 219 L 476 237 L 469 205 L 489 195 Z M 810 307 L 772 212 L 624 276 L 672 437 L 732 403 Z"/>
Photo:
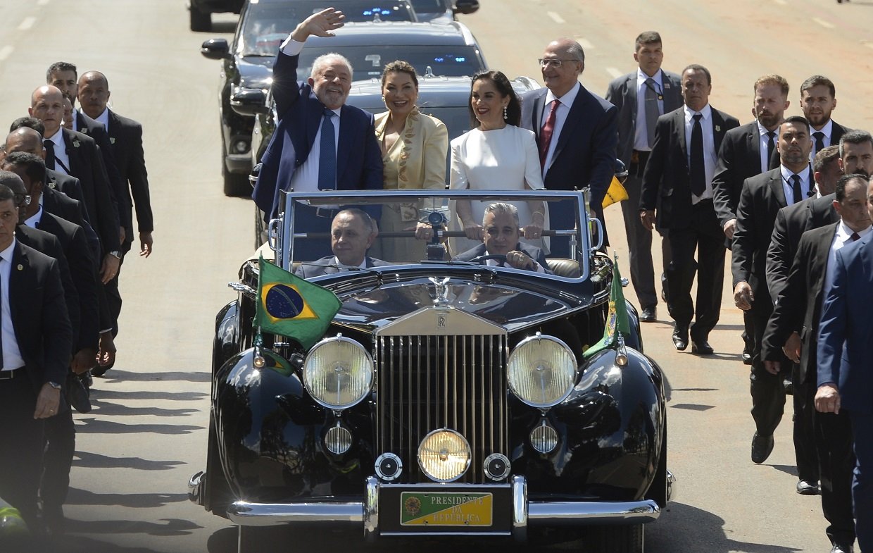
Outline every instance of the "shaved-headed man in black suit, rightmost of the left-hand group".
<path fill-rule="evenodd" d="M 109 83 L 103 73 L 89 71 L 79 78 L 79 104 L 89 117 L 98 122 L 106 121 L 113 159 L 121 176 L 123 187 L 119 206 L 127 210 L 122 220 L 128 223 L 127 238 L 122 244 L 122 250 L 127 252 L 134 239 L 131 209 L 135 205 L 140 255 L 148 257 L 152 252 L 152 232 L 155 230 L 155 223 L 148 193 L 148 171 L 142 149 L 142 125 L 109 109 L 107 107 L 109 96 Z"/>

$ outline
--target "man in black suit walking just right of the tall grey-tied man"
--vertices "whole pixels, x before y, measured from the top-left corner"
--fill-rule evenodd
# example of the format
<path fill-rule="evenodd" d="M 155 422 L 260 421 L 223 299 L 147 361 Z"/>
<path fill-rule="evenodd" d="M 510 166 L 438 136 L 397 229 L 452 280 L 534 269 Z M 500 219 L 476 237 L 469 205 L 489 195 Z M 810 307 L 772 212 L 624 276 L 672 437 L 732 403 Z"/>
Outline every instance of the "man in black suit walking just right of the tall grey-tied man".
<path fill-rule="evenodd" d="M 712 206 L 712 173 L 725 133 L 739 126 L 735 117 L 710 106 L 711 90 L 711 76 L 704 66 L 685 68 L 685 105 L 657 120 L 639 206 L 645 228 L 654 228 L 657 209 L 661 225 L 670 230 L 673 262 L 667 268 L 667 286 L 670 316 L 676 321 L 673 345 L 680 351 L 687 348 L 690 330 L 691 352 L 700 355 L 712 353 L 708 339 L 718 323 L 725 273 L 725 238 Z M 698 297 L 692 303 L 695 270 Z"/>

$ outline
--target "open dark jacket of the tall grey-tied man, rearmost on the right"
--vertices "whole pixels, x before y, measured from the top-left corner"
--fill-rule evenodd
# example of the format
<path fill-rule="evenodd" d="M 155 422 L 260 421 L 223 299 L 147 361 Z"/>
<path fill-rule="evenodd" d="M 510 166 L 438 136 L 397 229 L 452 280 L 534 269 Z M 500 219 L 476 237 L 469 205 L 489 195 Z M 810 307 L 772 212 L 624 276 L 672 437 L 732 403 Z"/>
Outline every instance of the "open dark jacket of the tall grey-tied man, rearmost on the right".
<path fill-rule="evenodd" d="M 639 81 L 636 71 L 609 83 L 606 100 L 618 109 L 618 149 L 616 156 L 630 167 L 636 137 L 636 107 Z M 663 114 L 682 107 L 682 82 L 679 75 L 661 70 Z"/>

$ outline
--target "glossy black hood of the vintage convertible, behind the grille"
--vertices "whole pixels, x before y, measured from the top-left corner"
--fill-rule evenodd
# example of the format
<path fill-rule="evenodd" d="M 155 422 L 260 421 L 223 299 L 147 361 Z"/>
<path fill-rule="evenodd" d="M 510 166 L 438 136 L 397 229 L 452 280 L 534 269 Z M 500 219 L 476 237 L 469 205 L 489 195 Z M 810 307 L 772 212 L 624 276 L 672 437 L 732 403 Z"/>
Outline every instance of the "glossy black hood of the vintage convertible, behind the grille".
<path fill-rule="evenodd" d="M 519 287 L 512 282 L 452 278 L 443 287 L 442 305 L 478 315 L 511 333 L 585 308 L 591 302 L 590 296 L 566 294 L 550 288 L 547 282 L 527 284 L 539 286 L 531 289 L 534 286 Z M 365 285 L 357 290 L 343 287 L 338 292 L 343 305 L 334 322 L 373 332 L 403 315 L 433 306 L 438 287 L 441 286 L 429 280 L 382 283 L 378 287 Z"/>

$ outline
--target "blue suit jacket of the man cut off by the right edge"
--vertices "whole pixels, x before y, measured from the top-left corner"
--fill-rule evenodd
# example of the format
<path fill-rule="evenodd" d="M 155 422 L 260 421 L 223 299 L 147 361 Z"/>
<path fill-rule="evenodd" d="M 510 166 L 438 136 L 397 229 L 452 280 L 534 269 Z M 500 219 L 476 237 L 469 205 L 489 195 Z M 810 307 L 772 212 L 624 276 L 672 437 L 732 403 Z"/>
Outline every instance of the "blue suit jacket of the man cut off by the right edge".
<path fill-rule="evenodd" d="M 818 385 L 836 383 L 842 407 L 873 412 L 873 234 L 836 252 L 821 312 Z"/>

